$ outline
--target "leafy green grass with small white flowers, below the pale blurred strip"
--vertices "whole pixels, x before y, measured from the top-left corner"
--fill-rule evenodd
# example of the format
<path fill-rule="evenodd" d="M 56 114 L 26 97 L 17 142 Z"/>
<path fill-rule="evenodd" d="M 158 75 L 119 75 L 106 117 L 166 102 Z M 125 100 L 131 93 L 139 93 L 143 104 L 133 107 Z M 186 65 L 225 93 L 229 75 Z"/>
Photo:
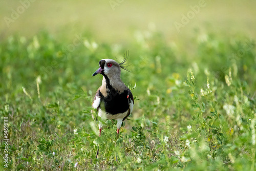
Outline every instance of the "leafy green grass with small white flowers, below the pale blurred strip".
<path fill-rule="evenodd" d="M 96 46 L 90 33 L 77 44 L 75 36 L 60 42 L 47 32 L 2 41 L 0 138 L 3 152 L 7 116 L 8 169 L 254 170 L 254 41 L 195 32 L 195 48 L 186 51 L 150 35 L 120 46 Z M 100 59 L 121 61 L 126 51 L 131 73 L 121 78 L 136 84 L 140 100 L 119 137 L 110 120 L 98 137 L 91 103 L 102 77 L 92 74 Z"/>

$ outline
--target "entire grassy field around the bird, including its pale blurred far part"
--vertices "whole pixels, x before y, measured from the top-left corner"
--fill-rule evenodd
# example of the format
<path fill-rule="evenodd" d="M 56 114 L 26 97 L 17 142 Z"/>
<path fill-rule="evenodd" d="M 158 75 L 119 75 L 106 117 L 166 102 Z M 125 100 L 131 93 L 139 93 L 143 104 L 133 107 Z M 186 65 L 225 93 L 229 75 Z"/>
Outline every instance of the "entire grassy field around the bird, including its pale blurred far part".
<path fill-rule="evenodd" d="M 218 3 L 206 2 L 180 30 L 174 22 L 182 24 L 180 14 L 193 11 L 189 6 L 197 1 L 166 2 L 168 7 L 150 1 L 146 7 L 155 7 L 156 16 L 137 2 L 134 10 L 144 13 L 138 18 L 127 14 L 135 1 L 123 1 L 116 9 L 109 2 L 88 2 L 84 13 L 82 1 L 67 1 L 60 9 L 61 1 L 35 1 L 10 27 L 2 23 L 0 169 L 255 170 L 255 3 L 234 2 L 223 19 L 225 8 L 212 17 Z M 60 13 L 38 10 L 49 4 Z M 2 2 L 0 9 L 6 8 L 0 17 L 19 5 Z M 170 5 L 178 13 L 173 22 L 156 19 Z M 236 14 L 239 10 L 244 15 Z M 39 19 L 33 19 L 35 11 Z M 109 23 L 97 22 L 104 12 Z M 125 19 L 121 22 L 114 12 L 126 12 Z M 49 19 L 52 14 L 58 16 Z M 61 14 L 67 24 L 58 19 Z M 82 14 L 97 19 L 85 18 L 87 27 Z M 114 25 L 119 19 L 121 24 Z M 121 79 L 133 92 L 134 111 L 119 136 L 116 121 L 107 120 L 99 137 L 91 104 L 102 76 L 92 74 L 100 59 L 121 62 L 127 54 L 130 72 L 122 70 Z"/>

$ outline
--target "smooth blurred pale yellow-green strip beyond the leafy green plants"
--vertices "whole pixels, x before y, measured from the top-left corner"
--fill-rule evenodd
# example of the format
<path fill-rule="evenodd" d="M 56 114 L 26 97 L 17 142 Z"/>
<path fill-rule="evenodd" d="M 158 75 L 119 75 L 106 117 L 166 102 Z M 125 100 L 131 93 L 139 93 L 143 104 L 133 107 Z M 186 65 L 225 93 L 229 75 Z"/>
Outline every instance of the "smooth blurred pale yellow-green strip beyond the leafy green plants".
<path fill-rule="evenodd" d="M 168 41 L 187 44 L 194 29 L 202 32 L 255 33 L 255 1 L 207 1 L 189 24 L 178 32 L 175 22 L 200 1 L 40 1 L 31 2 L 7 27 L 3 17 L 17 11 L 20 1 L 1 1 L 1 40 L 12 34 L 33 36 L 47 30 L 57 38 L 71 37 L 91 31 L 96 41 L 123 43 L 134 38 L 135 30 L 155 27 Z M 116 4 L 115 4 L 116 3 Z M 20 10 L 22 12 L 22 10 Z M 153 26 L 151 26 L 153 24 Z M 224 36 L 224 34 L 223 34 Z M 185 44 L 185 45 L 186 45 Z"/>

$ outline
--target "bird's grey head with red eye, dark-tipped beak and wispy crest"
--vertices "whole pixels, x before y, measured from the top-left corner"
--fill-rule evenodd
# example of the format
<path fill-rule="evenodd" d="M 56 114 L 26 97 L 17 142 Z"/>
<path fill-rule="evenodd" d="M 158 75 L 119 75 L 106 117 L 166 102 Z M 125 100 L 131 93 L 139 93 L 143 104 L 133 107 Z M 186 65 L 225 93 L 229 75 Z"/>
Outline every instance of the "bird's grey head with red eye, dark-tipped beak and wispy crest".
<path fill-rule="evenodd" d="M 119 76 L 121 74 L 121 68 L 126 70 L 124 67 L 124 63 L 126 58 L 121 62 L 118 63 L 113 59 L 102 59 L 99 61 L 99 69 L 93 73 L 93 76 L 97 74 L 102 74 L 103 76 L 107 76 L 108 78 L 112 78 L 114 76 Z"/>

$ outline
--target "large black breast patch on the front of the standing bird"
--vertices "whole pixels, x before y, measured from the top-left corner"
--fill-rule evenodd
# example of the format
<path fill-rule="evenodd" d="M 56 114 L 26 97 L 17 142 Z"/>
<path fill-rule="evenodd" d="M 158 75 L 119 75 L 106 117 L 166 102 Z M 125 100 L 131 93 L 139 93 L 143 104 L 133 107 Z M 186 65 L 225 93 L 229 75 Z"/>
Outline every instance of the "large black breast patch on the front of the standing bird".
<path fill-rule="evenodd" d="M 100 97 L 102 99 L 100 103 L 100 109 L 105 109 L 105 112 L 111 115 L 124 113 L 129 109 L 129 101 L 127 99 L 127 94 L 128 94 L 127 90 L 119 94 L 115 89 L 112 89 L 107 93 L 108 93 L 108 96 L 104 97 L 101 94 L 101 92 L 99 92 Z"/>

